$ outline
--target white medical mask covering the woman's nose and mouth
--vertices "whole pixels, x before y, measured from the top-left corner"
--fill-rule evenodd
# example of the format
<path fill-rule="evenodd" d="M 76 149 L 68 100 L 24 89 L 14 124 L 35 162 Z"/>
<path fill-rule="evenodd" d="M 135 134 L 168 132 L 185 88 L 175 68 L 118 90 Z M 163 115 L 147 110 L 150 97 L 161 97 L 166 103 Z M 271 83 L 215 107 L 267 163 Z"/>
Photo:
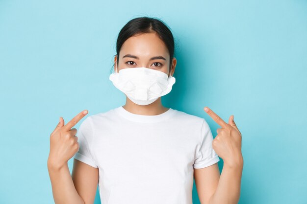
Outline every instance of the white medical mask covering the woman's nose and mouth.
<path fill-rule="evenodd" d="M 169 76 L 151 68 L 122 68 L 110 74 L 113 85 L 124 92 L 127 97 L 138 105 L 149 105 L 160 96 L 171 92 L 176 82 Z"/>

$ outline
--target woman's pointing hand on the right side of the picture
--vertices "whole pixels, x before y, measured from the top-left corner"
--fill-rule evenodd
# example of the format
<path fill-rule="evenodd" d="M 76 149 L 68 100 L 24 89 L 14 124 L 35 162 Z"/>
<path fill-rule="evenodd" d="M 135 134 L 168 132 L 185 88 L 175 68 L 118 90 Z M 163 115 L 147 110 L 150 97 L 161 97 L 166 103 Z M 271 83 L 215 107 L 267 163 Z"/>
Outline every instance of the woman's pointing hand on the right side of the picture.
<path fill-rule="evenodd" d="M 229 122 L 226 123 L 208 107 L 205 107 L 204 110 L 222 127 L 216 130 L 217 136 L 212 141 L 212 148 L 216 154 L 223 159 L 224 165 L 226 164 L 230 167 L 243 165 L 242 136 L 233 121 L 233 115 L 230 116 Z"/>

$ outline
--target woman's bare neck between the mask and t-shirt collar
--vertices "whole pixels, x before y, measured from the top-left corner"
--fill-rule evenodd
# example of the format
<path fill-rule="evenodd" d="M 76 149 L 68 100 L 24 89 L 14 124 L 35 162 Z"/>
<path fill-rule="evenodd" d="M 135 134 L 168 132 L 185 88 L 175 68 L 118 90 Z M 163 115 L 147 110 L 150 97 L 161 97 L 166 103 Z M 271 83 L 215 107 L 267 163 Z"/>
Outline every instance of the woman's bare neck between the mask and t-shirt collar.
<path fill-rule="evenodd" d="M 138 105 L 133 103 L 127 96 L 126 96 L 126 104 L 123 106 L 130 113 L 139 114 L 139 115 L 158 115 L 162 114 L 169 110 L 161 103 L 161 97 L 155 100 L 153 103 L 149 105 Z"/>

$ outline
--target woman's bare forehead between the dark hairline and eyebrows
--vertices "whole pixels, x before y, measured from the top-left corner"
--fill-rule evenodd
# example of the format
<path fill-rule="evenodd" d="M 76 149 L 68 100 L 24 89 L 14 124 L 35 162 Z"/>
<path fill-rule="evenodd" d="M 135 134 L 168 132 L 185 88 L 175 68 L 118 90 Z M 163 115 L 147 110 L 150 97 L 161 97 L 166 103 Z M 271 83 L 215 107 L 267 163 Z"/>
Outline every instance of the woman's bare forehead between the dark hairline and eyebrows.
<path fill-rule="evenodd" d="M 169 58 L 169 52 L 164 42 L 154 33 L 142 33 L 128 38 L 122 45 L 120 57 L 126 54 L 150 58 L 153 55 L 162 55 Z"/>

